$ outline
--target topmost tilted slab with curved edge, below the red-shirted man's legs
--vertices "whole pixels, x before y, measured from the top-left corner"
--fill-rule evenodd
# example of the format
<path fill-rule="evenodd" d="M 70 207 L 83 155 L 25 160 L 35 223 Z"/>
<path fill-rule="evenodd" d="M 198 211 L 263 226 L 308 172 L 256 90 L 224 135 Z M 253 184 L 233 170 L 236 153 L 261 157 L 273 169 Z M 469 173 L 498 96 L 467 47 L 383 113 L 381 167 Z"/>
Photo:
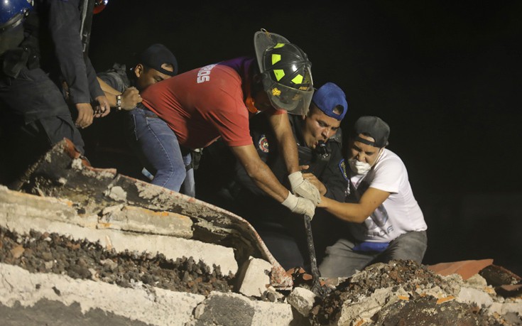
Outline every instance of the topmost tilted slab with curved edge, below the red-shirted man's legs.
<path fill-rule="evenodd" d="M 18 183 L 18 190 L 70 200 L 82 215 L 100 215 L 106 207 L 123 204 L 189 217 L 193 240 L 233 248 L 239 263 L 249 256 L 269 261 L 271 285 L 276 288 L 293 285 L 292 278 L 245 219 L 179 192 L 119 175 L 114 169 L 87 166 L 67 139 L 31 166 Z"/>

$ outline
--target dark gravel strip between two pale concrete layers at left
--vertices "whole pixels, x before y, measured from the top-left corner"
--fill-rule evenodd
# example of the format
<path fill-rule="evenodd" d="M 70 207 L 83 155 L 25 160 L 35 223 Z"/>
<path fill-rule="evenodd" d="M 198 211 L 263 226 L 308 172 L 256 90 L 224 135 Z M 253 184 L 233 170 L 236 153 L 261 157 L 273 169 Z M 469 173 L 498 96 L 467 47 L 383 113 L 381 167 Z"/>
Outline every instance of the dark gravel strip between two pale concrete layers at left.
<path fill-rule="evenodd" d="M 116 253 L 99 243 L 74 240 L 55 233 L 17 234 L 0 227 L 0 262 L 32 273 L 66 274 L 130 288 L 145 284 L 167 290 L 208 295 L 232 290 L 232 278 L 212 273 L 192 257 L 165 259 L 137 252 Z"/>

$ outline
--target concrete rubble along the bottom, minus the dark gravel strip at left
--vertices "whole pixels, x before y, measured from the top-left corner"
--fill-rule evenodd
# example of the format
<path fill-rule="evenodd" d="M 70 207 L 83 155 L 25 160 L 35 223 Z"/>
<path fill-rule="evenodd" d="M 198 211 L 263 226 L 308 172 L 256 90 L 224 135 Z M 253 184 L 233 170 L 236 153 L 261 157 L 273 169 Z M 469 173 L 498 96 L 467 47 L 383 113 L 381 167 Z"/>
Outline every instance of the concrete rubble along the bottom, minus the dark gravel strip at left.
<path fill-rule="evenodd" d="M 208 273 L 234 280 L 234 291 L 207 295 L 140 281 L 121 287 L 94 272 L 83 279 L 29 272 L 0 256 L 2 325 L 415 325 L 415 318 L 434 320 L 433 312 L 436 323 L 417 325 L 443 325 L 455 322 L 455 315 L 447 316 L 456 309 L 469 311 L 462 320 L 522 325 L 521 278 L 492 261 L 479 261 L 464 278 L 460 271 L 445 275 L 429 266 L 371 266 L 349 279 L 322 280 L 330 296 L 320 300 L 310 283 L 298 284 L 283 270 L 241 217 L 112 169 L 92 168 L 67 141 L 33 165 L 18 191 L 0 185 L 0 227 L 62 234 L 119 253 L 192 257 Z M 11 259 L 20 261 L 23 251 L 15 246 Z M 379 286 L 364 286 L 369 280 Z M 416 317 L 408 317 L 410 310 Z"/>

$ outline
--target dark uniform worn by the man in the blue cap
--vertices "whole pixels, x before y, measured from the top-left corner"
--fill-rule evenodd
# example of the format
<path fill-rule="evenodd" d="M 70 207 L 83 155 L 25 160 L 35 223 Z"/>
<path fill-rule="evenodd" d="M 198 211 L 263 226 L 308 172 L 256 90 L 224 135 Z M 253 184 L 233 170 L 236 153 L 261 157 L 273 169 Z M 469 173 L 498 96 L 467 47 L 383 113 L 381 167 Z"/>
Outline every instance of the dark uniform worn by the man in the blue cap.
<path fill-rule="evenodd" d="M 310 165 L 308 172 L 314 173 L 325 184 L 327 197 L 343 202 L 347 180 L 339 168 L 342 163 L 341 129 L 327 141 L 326 153 L 320 152 L 305 146 L 300 127 L 302 116 L 288 114 L 288 117 L 298 145 L 299 164 Z M 278 153 L 277 141 L 264 114 L 257 114 L 250 119 L 250 132 L 261 160 L 271 168 L 281 184 L 290 190 L 288 170 L 283 156 Z M 308 268 L 307 231 L 303 217 L 293 214 L 260 190 L 224 142 L 218 140 L 205 148 L 202 165 L 197 172 L 196 182 L 202 185 L 197 191 L 199 199 L 223 207 L 249 221 L 283 268 Z M 336 220 L 325 210 L 315 210 L 312 233 L 317 262 L 322 259 L 325 247 L 337 239 Z"/>

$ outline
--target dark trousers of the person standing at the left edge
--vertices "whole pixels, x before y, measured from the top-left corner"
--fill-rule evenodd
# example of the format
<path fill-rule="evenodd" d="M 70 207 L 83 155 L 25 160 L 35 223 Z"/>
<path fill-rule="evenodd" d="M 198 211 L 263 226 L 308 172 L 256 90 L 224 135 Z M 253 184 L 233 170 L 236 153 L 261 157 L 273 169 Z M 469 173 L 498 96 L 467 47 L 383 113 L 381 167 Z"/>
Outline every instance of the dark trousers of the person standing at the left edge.
<path fill-rule="evenodd" d="M 0 75 L 0 182 L 18 177 L 63 138 L 84 153 L 70 109 L 48 75 L 25 67 L 16 78 Z"/>

